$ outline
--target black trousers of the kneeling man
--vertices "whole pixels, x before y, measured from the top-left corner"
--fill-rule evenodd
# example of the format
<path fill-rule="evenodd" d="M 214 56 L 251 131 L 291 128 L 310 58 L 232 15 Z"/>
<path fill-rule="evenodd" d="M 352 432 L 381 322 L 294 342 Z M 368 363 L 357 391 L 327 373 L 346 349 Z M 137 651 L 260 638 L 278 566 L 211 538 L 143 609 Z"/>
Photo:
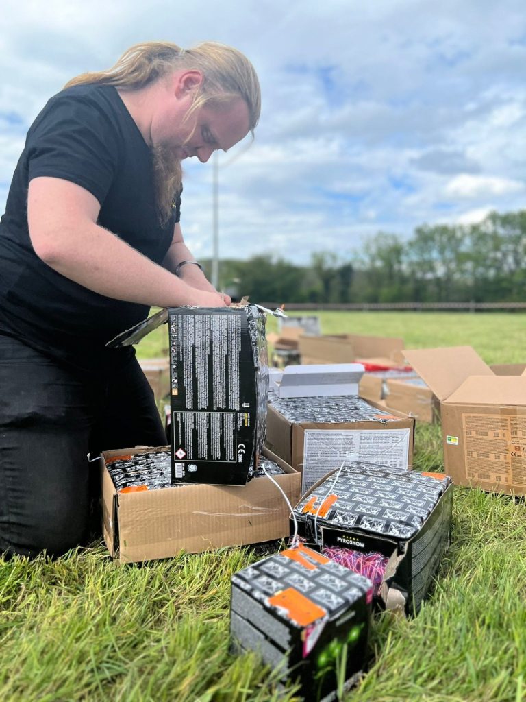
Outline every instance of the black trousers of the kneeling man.
<path fill-rule="evenodd" d="M 166 435 L 135 355 L 101 377 L 0 335 L 0 552 L 60 555 L 88 538 L 87 454 L 163 446 Z M 91 474 L 91 475 L 90 475 Z"/>

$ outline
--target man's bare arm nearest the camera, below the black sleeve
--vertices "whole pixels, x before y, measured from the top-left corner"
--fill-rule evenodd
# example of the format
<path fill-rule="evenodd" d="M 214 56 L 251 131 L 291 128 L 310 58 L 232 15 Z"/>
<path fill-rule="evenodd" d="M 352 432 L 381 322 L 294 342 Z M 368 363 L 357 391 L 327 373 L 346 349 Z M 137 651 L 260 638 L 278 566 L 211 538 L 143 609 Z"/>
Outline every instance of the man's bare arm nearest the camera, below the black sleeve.
<path fill-rule="evenodd" d="M 97 225 L 99 210 L 97 199 L 79 185 L 34 178 L 27 220 L 36 255 L 65 277 L 117 300 L 156 307 L 224 306 L 219 293 L 190 286 Z"/>

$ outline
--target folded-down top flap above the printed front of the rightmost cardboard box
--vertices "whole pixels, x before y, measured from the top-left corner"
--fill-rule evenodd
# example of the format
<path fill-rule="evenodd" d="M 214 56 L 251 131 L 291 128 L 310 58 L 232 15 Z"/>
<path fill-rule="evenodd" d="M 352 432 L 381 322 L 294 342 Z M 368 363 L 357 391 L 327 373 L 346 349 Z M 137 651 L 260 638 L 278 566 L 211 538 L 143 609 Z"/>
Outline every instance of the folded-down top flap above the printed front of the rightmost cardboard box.
<path fill-rule="evenodd" d="M 525 376 L 470 376 L 447 404 L 526 405 Z"/>

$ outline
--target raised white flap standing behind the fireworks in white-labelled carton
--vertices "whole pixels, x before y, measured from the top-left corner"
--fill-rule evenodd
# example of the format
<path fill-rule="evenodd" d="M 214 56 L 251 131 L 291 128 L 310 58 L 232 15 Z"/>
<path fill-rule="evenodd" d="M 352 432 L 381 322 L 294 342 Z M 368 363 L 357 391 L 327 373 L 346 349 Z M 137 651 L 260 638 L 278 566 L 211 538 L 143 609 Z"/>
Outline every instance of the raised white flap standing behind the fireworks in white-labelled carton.
<path fill-rule="evenodd" d="M 287 366 L 278 385 L 278 397 L 358 395 L 362 376 L 359 363 Z"/>

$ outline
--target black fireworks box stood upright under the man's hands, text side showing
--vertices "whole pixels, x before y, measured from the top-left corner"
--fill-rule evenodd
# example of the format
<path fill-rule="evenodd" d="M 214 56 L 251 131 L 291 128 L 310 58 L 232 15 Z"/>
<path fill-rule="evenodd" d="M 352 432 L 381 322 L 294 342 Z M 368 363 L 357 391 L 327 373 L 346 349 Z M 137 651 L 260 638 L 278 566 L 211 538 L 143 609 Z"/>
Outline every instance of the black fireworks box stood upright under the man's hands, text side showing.
<path fill-rule="evenodd" d="M 265 312 L 170 307 L 109 343 L 137 343 L 168 322 L 174 481 L 244 485 L 252 477 L 267 415 Z"/>

